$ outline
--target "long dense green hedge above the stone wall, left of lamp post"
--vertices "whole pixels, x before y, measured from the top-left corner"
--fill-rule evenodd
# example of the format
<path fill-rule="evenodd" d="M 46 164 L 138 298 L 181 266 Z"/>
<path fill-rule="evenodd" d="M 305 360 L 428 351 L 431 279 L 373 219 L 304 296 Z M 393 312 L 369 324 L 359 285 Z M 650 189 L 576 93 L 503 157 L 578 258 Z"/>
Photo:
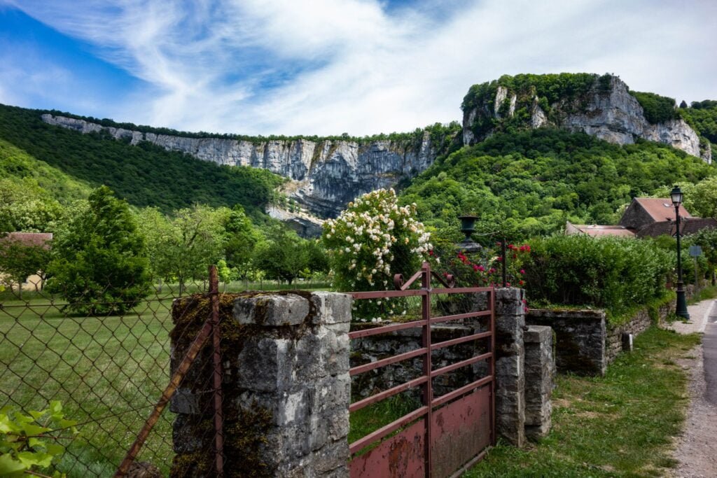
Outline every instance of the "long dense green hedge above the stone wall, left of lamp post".
<path fill-rule="evenodd" d="M 619 315 L 665 294 L 673 257 L 650 242 L 552 236 L 531 241 L 526 289 L 531 301 L 603 307 Z"/>

